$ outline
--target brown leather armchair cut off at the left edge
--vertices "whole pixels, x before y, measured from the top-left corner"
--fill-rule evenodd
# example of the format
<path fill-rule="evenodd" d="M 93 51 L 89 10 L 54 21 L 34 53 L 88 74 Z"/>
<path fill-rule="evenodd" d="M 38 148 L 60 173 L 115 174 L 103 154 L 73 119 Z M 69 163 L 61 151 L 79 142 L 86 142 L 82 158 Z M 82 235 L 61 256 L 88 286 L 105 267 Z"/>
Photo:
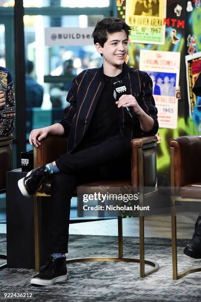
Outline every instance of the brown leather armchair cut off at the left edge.
<path fill-rule="evenodd" d="M 12 170 L 12 134 L 0 137 L 0 194 L 5 193 L 5 172 Z M 0 254 L 1 259 L 7 259 L 5 255 Z M 0 265 L 0 268 L 6 264 Z"/>

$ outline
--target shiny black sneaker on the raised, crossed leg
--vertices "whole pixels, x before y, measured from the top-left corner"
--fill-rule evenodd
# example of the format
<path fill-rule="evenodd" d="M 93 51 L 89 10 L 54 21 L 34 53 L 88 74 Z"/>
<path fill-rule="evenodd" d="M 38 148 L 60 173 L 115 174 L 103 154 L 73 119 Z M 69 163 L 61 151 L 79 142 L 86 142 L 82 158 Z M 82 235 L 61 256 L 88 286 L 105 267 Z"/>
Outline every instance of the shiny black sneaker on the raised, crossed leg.
<path fill-rule="evenodd" d="M 43 181 L 46 181 L 49 175 L 45 165 L 31 170 L 27 175 L 18 181 L 18 187 L 25 197 L 31 197 L 40 187 Z"/>

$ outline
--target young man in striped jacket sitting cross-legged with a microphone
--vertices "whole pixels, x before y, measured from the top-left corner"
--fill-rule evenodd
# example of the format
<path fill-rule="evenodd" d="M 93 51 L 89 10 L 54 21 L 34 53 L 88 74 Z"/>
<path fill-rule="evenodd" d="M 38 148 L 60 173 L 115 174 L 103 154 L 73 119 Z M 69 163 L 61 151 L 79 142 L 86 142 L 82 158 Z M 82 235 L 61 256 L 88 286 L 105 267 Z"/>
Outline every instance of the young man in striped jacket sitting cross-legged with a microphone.
<path fill-rule="evenodd" d="M 66 280 L 68 229 L 72 192 L 81 181 L 130 177 L 130 142 L 158 131 L 157 109 L 151 78 L 124 63 L 130 27 L 117 18 L 105 18 L 94 29 L 96 50 L 103 57 L 99 69 L 85 70 L 72 82 L 67 96 L 70 108 L 60 123 L 32 130 L 36 147 L 47 136 L 68 136 L 68 152 L 53 163 L 32 170 L 19 181 L 24 196 L 33 195 L 46 176 L 51 177 L 51 260 L 32 284 L 51 285 Z M 126 84 L 130 94 L 115 102 L 114 78 Z M 112 81 L 112 82 L 111 82 Z M 131 107 L 134 119 L 125 107 Z"/>

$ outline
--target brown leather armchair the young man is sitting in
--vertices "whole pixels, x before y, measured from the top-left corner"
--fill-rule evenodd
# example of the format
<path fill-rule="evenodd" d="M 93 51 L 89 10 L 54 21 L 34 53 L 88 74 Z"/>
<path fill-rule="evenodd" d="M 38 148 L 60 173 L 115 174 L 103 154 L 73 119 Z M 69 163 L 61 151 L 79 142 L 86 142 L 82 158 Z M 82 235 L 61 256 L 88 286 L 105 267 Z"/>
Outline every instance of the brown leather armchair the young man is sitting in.
<path fill-rule="evenodd" d="M 80 186 L 90 187 L 93 191 L 102 190 L 105 187 L 127 186 L 138 188 L 143 197 L 146 194 L 143 192 L 144 187 L 153 187 L 153 191 L 148 194 L 157 192 L 157 165 L 156 165 L 156 145 L 157 137 L 149 136 L 137 138 L 131 142 L 131 179 L 118 181 L 100 181 L 81 184 Z M 47 136 L 40 147 L 34 148 L 34 166 L 38 167 L 48 162 L 54 161 L 59 155 L 66 152 L 67 140 L 58 136 Z M 35 204 L 35 261 L 36 270 L 40 270 L 40 229 L 39 229 L 39 201 L 38 196 L 48 196 L 50 193 L 50 184 L 44 184 L 34 196 Z M 76 195 L 76 192 L 75 192 Z M 139 217 L 140 224 L 140 259 L 123 258 L 123 238 L 122 238 L 122 217 L 118 217 L 118 238 L 119 238 L 119 257 L 109 258 L 81 258 L 68 260 L 69 262 L 86 262 L 86 261 L 127 261 L 140 263 L 140 276 L 146 277 L 149 274 L 159 269 L 159 264 L 145 260 L 144 253 L 144 216 Z M 145 264 L 151 265 L 152 268 L 145 272 Z"/>

